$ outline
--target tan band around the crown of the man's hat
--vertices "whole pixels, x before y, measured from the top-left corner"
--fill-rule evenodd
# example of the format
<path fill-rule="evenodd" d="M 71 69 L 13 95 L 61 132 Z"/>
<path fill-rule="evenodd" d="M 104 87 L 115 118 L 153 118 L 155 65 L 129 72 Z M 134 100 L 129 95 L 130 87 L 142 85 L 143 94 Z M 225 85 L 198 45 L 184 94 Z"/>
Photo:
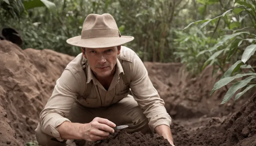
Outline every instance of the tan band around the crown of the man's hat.
<path fill-rule="evenodd" d="M 121 37 L 117 29 L 88 29 L 81 32 L 81 38 L 94 38 L 94 37 Z"/>

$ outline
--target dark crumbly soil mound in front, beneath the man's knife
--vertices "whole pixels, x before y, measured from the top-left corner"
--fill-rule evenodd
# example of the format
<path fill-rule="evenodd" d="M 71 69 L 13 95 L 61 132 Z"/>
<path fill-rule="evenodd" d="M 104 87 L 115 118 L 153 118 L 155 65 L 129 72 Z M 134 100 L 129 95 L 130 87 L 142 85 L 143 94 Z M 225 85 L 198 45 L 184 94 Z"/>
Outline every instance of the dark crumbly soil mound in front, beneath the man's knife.
<path fill-rule="evenodd" d="M 167 139 L 159 136 L 151 138 L 141 132 L 128 134 L 125 130 L 111 134 L 107 139 L 100 141 L 94 146 L 171 146 Z"/>

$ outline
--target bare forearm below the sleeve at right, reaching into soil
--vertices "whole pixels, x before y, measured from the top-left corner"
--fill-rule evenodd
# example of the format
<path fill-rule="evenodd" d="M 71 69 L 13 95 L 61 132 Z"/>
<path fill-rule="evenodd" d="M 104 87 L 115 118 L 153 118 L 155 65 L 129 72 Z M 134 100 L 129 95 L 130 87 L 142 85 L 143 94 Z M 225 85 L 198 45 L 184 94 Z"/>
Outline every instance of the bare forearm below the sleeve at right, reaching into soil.
<path fill-rule="evenodd" d="M 157 132 L 158 135 L 161 135 L 164 138 L 166 138 L 172 146 L 175 146 L 173 143 L 173 136 L 171 135 L 171 129 L 169 126 L 159 125 L 155 127 L 155 132 Z"/>

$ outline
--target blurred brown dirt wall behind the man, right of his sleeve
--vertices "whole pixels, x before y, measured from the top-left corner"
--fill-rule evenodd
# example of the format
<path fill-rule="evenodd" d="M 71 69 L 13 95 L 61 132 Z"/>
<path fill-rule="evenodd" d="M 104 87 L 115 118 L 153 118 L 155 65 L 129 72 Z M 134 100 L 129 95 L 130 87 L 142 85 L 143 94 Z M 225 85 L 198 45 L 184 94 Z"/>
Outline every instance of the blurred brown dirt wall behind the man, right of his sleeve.
<path fill-rule="evenodd" d="M 206 67 L 196 77 L 185 71 L 181 63 L 145 62 L 145 66 L 173 119 L 222 117 L 237 111 L 250 97 L 243 96 L 237 101 L 231 99 L 220 104 L 227 89 L 222 87 L 210 95 L 218 81 L 218 73 L 212 77 L 212 66 Z"/>

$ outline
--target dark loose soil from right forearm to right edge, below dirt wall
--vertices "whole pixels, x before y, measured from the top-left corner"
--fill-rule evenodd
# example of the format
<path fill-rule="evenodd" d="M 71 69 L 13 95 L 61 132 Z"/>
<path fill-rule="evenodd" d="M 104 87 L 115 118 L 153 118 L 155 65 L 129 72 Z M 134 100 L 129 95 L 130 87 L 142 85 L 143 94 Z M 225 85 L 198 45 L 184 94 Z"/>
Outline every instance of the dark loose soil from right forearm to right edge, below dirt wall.
<path fill-rule="evenodd" d="M 256 94 L 227 118 L 201 118 L 195 123 L 177 120 L 172 124 L 175 145 L 255 146 Z"/>

